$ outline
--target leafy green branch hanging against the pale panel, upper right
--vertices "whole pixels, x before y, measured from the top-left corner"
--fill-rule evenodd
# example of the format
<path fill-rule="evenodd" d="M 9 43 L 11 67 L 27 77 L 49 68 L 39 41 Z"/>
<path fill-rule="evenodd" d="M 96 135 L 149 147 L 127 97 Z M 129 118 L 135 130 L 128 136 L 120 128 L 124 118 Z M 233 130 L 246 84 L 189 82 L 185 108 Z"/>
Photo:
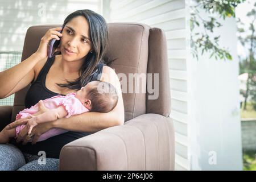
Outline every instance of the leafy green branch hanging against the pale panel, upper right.
<path fill-rule="evenodd" d="M 194 50 L 195 52 L 193 52 L 193 55 L 196 55 L 196 57 L 198 58 L 197 48 L 200 48 L 202 55 L 205 52 L 210 52 L 211 53 L 210 58 L 214 56 L 216 60 L 217 59 L 232 60 L 232 56 L 230 55 L 230 53 L 225 49 L 222 49 L 219 47 L 218 41 L 220 36 L 216 36 L 213 38 L 213 40 L 211 40 L 212 35 L 210 34 L 214 31 L 218 31 L 217 28 L 222 26 L 222 24 L 218 22 L 216 18 L 211 16 L 211 14 L 213 12 L 217 13 L 218 15 L 220 15 L 222 19 L 225 19 L 226 16 L 228 17 L 235 16 L 235 7 L 238 4 L 244 2 L 245 0 L 229 0 L 229 1 L 194 0 L 194 1 L 197 2 L 197 5 L 192 7 L 193 13 L 191 14 L 192 16 L 191 29 L 193 30 L 195 26 L 199 27 L 200 24 L 202 24 L 203 26 L 201 27 L 204 28 L 205 34 L 201 34 L 201 37 L 195 38 L 195 36 L 198 36 L 200 34 L 199 32 L 195 32 L 194 35 L 191 36 L 191 41 L 192 41 L 191 46 L 195 47 L 195 50 Z M 213 6 L 210 6 L 210 3 L 214 3 L 214 8 Z M 198 10 L 199 7 L 203 8 L 208 13 L 208 17 L 210 19 L 200 16 L 199 10 Z M 241 29 L 240 31 L 244 31 L 244 30 Z M 195 40 L 192 40 L 192 39 L 195 39 Z"/>

